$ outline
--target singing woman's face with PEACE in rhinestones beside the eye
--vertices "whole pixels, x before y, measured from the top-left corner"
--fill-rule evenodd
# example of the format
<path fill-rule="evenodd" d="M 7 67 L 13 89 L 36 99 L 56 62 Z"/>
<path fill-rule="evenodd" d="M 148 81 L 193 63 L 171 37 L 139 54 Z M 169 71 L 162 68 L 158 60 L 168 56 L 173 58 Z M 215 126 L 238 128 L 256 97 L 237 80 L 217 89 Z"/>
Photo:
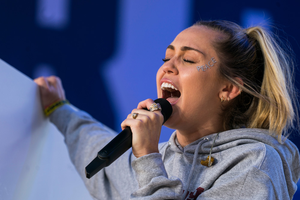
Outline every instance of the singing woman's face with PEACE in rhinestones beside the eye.
<path fill-rule="evenodd" d="M 222 85 L 217 73 L 219 59 L 211 42 L 216 36 L 213 30 L 194 26 L 179 33 L 167 47 L 156 76 L 158 97 L 173 107 L 165 126 L 195 131 L 219 117 Z"/>

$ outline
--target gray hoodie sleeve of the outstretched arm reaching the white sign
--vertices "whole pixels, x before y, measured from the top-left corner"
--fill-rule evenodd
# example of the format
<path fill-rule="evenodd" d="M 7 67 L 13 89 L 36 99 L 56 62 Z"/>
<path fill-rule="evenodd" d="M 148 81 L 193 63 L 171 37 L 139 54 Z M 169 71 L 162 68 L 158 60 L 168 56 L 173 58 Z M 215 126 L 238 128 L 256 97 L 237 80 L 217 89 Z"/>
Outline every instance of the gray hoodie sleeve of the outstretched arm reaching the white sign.
<path fill-rule="evenodd" d="M 128 199 L 138 184 L 131 167 L 131 149 L 92 178 L 85 177 L 85 167 L 97 156 L 116 133 L 74 106 L 63 105 L 50 116 L 50 121 L 64 135 L 70 159 L 89 193 L 95 199 Z"/>

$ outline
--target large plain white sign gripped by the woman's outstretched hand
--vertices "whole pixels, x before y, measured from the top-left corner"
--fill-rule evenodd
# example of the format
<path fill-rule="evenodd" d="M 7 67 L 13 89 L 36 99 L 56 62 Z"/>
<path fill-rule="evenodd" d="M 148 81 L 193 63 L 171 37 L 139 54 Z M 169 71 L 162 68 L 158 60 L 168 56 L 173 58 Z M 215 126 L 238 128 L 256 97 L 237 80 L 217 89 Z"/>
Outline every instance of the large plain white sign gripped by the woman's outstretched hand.
<path fill-rule="evenodd" d="M 92 199 L 38 86 L 0 59 L 0 199 Z"/>

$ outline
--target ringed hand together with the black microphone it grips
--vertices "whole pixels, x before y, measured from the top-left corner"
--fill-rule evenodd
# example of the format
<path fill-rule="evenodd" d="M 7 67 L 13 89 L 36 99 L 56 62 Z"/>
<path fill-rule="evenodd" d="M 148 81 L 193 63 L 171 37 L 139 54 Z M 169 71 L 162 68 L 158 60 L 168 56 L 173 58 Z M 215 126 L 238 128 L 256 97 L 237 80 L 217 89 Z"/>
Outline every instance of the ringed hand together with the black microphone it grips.
<path fill-rule="evenodd" d="M 138 113 L 136 118 L 134 119 L 132 114 L 128 115 L 121 124 L 122 132 L 102 148 L 97 157 L 85 167 L 86 178 L 91 178 L 101 169 L 109 166 L 131 146 L 136 157 L 158 152 L 161 126 L 171 116 L 173 108 L 166 99 L 160 98 L 154 102 L 160 104 L 161 112 L 158 110 L 148 111 L 147 108 L 153 104 L 151 99 L 140 102 L 138 109 L 133 110 L 133 113 Z M 138 120 L 138 118 L 140 119 Z"/>

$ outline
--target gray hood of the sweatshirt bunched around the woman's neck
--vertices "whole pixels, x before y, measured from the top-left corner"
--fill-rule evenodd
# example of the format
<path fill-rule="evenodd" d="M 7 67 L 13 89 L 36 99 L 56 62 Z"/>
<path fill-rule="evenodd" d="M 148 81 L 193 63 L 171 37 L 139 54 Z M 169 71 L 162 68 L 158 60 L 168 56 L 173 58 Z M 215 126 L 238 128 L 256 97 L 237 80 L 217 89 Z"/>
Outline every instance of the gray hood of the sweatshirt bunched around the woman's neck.
<path fill-rule="evenodd" d="M 208 140 L 205 138 L 207 138 Z M 205 140 L 205 142 L 202 143 L 201 141 L 203 140 Z M 283 144 L 280 144 L 277 141 L 277 139 L 268 135 L 268 130 L 248 129 L 248 128 L 228 130 L 228 131 L 220 132 L 218 135 L 217 133 L 214 133 L 205 136 L 203 138 L 200 138 L 195 142 L 192 142 L 189 145 L 185 146 L 184 148 L 179 144 L 176 137 L 176 131 L 175 131 L 172 134 L 169 142 L 171 145 L 169 148 L 170 150 L 168 151 L 182 153 L 187 157 L 194 156 L 196 147 L 199 144 L 199 142 L 201 142 L 202 144 L 200 145 L 198 151 L 198 155 L 197 155 L 198 157 L 201 156 L 203 157 L 203 154 L 205 154 L 207 157 L 209 155 L 212 145 L 213 148 L 211 152 L 212 154 L 215 154 L 215 153 L 222 153 L 226 150 L 230 150 L 231 148 L 235 148 L 239 145 L 263 143 L 267 146 L 272 147 L 280 156 L 287 187 L 292 188 L 291 192 L 293 193 L 297 189 L 296 184 L 300 178 L 300 158 L 299 158 L 298 148 L 289 139 L 286 139 L 286 141 Z M 213 163 L 212 165 L 216 166 L 218 164 L 220 165 L 219 162 L 216 162 Z M 281 165 L 281 163 L 277 163 L 277 164 Z"/>

